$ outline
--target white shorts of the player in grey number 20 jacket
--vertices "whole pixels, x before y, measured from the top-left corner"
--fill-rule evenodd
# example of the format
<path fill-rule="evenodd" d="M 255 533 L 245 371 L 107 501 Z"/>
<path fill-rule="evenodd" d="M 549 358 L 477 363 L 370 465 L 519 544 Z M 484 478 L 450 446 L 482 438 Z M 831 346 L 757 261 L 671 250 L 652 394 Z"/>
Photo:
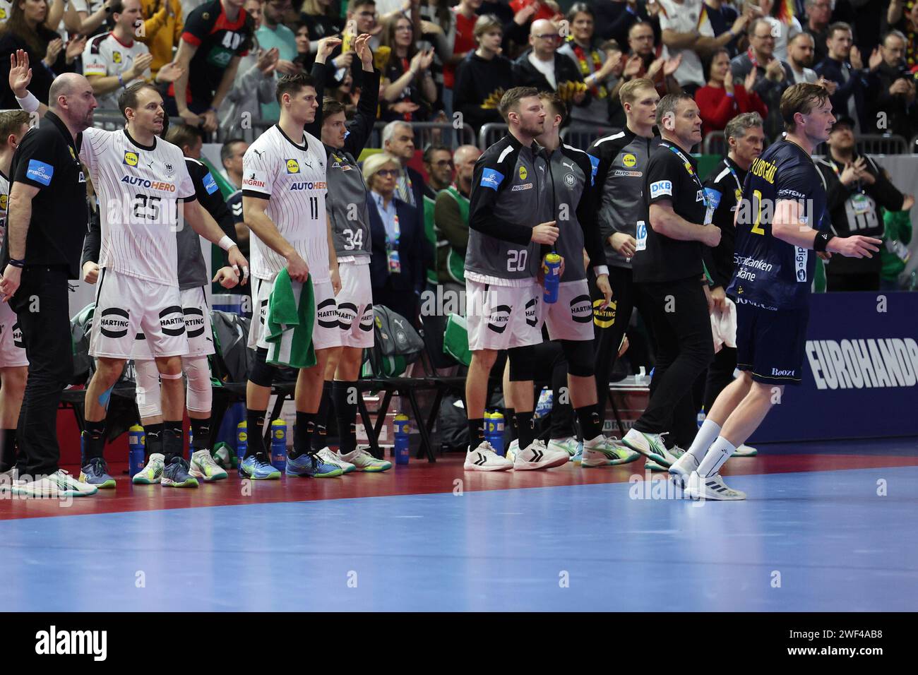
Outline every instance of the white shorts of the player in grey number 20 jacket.
<path fill-rule="evenodd" d="M 468 348 L 510 349 L 542 343 L 539 306 L 542 287 L 495 286 L 465 280 L 465 319 Z"/>

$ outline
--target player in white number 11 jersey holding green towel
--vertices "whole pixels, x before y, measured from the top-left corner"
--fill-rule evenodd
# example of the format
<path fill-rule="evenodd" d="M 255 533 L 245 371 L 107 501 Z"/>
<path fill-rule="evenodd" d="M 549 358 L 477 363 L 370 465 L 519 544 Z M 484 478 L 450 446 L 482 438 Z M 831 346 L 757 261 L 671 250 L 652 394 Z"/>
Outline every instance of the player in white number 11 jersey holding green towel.
<path fill-rule="evenodd" d="M 312 345 L 318 360 L 315 366 L 301 367 L 297 377 L 297 427 L 286 474 L 334 477 L 341 475 L 341 468 L 324 464 L 310 447 L 329 350 L 341 345 L 335 304 L 341 280 L 325 210 L 325 148 L 304 130 L 315 120 L 319 107 L 315 82 L 306 74 L 285 75 L 277 83 L 276 97 L 280 121 L 254 141 L 242 159 L 242 210 L 252 229 L 252 301 L 256 312 L 249 346 L 256 357 L 246 392 L 249 448 L 240 473 L 249 478 L 280 478 L 280 472 L 267 461 L 262 430 L 274 379 L 264 338 L 275 280 L 284 273 L 293 282 L 297 307 L 303 282 L 312 282 L 316 311 Z"/>

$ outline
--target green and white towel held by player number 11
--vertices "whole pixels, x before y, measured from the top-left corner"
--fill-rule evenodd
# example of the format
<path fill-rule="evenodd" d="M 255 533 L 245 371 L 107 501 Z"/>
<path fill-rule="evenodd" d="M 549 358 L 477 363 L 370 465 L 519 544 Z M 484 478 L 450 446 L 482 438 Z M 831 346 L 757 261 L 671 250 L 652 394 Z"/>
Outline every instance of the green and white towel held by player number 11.
<path fill-rule="evenodd" d="M 312 325 L 316 321 L 316 296 L 312 278 L 305 284 L 290 279 L 282 269 L 274 279 L 268 302 L 267 363 L 272 366 L 308 368 L 316 365 L 312 348 Z"/>

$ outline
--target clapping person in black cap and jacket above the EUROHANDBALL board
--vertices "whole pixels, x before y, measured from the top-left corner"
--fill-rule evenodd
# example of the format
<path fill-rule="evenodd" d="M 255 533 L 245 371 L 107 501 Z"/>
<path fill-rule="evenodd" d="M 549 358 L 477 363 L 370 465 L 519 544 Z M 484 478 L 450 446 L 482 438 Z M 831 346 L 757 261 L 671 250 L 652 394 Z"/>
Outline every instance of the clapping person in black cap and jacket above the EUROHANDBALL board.
<path fill-rule="evenodd" d="M 830 44 L 830 51 L 832 47 Z M 832 218 L 832 229 L 839 237 L 862 234 L 883 235 L 879 208 L 907 211 L 914 197 L 902 195 L 890 183 L 889 175 L 867 155 L 855 151 L 855 120 L 839 113 L 827 141 L 828 156 L 816 163 L 825 187 L 825 209 Z M 829 291 L 879 290 L 882 261 L 872 258 L 845 258 L 835 255 L 826 264 Z"/>

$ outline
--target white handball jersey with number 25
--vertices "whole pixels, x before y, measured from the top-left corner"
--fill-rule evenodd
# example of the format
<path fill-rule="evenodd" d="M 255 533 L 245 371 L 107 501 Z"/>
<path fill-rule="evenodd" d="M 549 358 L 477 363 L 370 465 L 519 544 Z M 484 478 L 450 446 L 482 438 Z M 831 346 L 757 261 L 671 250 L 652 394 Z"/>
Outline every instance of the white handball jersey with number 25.
<path fill-rule="evenodd" d="M 99 266 L 178 287 L 178 200 L 195 197 L 182 151 L 158 138 L 140 145 L 125 129 L 90 127 L 80 159 L 99 198 Z"/>

